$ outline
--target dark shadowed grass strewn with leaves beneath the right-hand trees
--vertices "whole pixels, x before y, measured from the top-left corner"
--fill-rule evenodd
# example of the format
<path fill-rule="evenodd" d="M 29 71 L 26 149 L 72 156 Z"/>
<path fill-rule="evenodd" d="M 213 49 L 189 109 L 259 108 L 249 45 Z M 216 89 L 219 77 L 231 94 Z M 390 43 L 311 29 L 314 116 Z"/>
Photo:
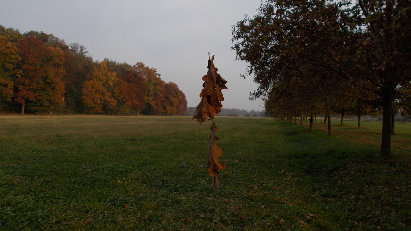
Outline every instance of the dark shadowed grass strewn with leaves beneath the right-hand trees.
<path fill-rule="evenodd" d="M 410 228 L 409 162 L 381 159 L 375 144 L 278 125 L 288 152 L 277 161 L 302 177 L 303 187 L 331 210 L 335 222 L 350 229 Z"/>

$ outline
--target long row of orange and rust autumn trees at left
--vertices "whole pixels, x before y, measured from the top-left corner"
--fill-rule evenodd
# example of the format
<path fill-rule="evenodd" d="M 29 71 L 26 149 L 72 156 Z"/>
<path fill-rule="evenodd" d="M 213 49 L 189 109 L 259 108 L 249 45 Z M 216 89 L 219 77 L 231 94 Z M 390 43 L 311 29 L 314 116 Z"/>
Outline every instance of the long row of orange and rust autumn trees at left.
<path fill-rule="evenodd" d="M 0 25 L 0 112 L 185 114 L 187 101 L 156 69 L 105 59 L 52 34 Z"/>

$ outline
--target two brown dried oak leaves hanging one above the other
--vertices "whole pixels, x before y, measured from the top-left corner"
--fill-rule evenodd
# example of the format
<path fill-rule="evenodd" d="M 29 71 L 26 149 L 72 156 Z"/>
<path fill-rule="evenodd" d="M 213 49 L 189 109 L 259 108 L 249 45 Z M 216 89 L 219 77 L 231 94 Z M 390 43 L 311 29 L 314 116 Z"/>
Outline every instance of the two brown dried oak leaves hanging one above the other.
<path fill-rule="evenodd" d="M 208 53 L 208 71 L 203 76 L 204 84 L 200 97 L 201 102 L 196 107 L 196 111 L 192 119 L 197 119 L 201 124 L 207 117 L 214 119 L 215 114 L 221 112 L 221 101 L 224 100 L 222 89 L 227 89 L 225 84 L 227 81 L 217 73 L 218 69 L 214 66 L 214 54 L 210 60 L 210 53 Z M 220 170 L 226 169 L 226 165 L 220 163 L 220 158 L 223 155 L 221 148 L 215 143 L 218 139 L 215 132 L 218 130 L 215 122 L 212 122 L 211 133 L 209 134 L 208 157 L 207 157 L 207 171 L 213 178 L 213 189 L 218 183 L 218 175 Z"/>

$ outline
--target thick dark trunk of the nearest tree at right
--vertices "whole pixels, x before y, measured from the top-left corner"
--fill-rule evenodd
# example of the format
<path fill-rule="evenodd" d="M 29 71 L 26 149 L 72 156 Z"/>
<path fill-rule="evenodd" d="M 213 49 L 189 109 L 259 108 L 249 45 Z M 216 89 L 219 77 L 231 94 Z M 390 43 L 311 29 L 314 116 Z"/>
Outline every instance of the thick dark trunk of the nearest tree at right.
<path fill-rule="evenodd" d="M 391 157 L 391 94 L 385 94 L 382 97 L 382 139 L 381 139 L 381 156 L 383 158 Z"/>

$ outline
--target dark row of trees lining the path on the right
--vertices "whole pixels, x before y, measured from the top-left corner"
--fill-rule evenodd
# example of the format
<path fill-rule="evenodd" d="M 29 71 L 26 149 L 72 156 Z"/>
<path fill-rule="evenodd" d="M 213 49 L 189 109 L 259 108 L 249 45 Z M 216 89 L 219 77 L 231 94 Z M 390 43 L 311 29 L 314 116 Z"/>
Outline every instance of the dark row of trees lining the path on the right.
<path fill-rule="evenodd" d="M 391 155 L 392 115 L 411 110 L 409 0 L 267 0 L 232 34 L 269 113 L 382 113 Z"/>

